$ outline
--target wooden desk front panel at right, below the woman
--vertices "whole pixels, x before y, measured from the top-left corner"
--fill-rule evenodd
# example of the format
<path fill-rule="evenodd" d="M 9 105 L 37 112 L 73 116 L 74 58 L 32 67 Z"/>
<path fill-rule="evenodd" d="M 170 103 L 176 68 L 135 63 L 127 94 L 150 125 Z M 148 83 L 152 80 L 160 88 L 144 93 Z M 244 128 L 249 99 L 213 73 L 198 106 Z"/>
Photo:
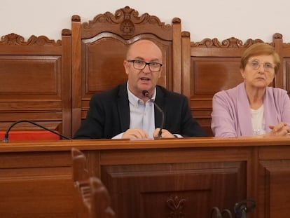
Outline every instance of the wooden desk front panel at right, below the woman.
<path fill-rule="evenodd" d="M 290 217 L 290 148 L 260 149 L 257 211 L 260 217 Z"/>

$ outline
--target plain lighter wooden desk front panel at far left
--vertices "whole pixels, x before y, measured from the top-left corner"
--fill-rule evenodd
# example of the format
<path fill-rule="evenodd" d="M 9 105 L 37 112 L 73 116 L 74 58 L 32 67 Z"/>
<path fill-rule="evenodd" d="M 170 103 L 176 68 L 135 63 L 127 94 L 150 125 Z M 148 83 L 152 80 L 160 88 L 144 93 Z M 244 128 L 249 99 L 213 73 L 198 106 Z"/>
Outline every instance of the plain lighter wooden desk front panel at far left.
<path fill-rule="evenodd" d="M 69 152 L 0 153 L 0 217 L 76 217 Z"/>

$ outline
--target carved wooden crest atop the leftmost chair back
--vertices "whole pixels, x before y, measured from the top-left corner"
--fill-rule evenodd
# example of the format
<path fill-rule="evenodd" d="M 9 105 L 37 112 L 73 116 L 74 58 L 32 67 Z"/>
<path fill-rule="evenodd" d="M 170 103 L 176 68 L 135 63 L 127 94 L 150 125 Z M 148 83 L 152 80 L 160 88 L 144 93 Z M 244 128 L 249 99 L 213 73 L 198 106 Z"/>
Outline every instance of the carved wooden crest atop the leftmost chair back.
<path fill-rule="evenodd" d="M 30 36 L 27 41 L 25 41 L 23 36 L 20 36 L 18 34 L 8 34 L 6 36 L 1 37 L 0 44 L 7 44 L 7 45 L 19 45 L 19 46 L 31 46 L 31 45 L 36 45 L 36 46 L 43 46 L 45 44 L 50 44 L 50 45 L 55 45 L 55 46 L 61 46 L 62 41 L 57 40 L 50 40 L 46 36 Z"/>

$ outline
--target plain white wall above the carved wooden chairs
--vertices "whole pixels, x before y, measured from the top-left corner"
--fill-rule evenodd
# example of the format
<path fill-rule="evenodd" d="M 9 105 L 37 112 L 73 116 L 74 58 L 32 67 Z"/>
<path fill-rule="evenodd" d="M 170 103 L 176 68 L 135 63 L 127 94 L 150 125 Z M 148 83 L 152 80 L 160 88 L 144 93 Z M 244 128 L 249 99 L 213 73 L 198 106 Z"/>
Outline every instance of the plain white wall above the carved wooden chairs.
<path fill-rule="evenodd" d="M 156 15 L 167 24 L 181 18 L 182 30 L 191 32 L 191 41 L 234 36 L 270 42 L 272 34 L 279 32 L 284 42 L 290 42 L 290 1 L 285 0 L 1 0 L 0 5 L 0 36 L 61 39 L 62 29 L 71 29 L 71 15 L 80 15 L 84 22 L 130 6 L 139 15 Z"/>

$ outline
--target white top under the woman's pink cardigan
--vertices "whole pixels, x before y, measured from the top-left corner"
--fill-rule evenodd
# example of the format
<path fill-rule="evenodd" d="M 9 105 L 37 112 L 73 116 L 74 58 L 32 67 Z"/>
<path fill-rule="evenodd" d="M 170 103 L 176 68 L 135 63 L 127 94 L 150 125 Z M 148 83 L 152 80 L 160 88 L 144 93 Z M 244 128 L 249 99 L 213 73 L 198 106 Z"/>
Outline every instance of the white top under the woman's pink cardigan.
<path fill-rule="evenodd" d="M 251 126 L 254 135 L 261 135 L 265 133 L 265 118 L 264 118 L 264 105 L 256 110 L 251 109 Z"/>

